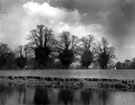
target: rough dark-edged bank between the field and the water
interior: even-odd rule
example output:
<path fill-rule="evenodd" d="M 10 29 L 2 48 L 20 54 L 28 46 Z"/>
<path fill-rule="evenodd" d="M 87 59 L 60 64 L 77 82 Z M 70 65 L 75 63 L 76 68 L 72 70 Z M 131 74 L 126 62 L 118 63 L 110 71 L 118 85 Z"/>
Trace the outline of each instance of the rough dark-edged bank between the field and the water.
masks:
<path fill-rule="evenodd" d="M 105 78 L 62 78 L 40 76 L 0 76 L 0 85 L 9 84 L 49 88 L 100 88 L 115 91 L 135 91 L 135 80 Z"/>

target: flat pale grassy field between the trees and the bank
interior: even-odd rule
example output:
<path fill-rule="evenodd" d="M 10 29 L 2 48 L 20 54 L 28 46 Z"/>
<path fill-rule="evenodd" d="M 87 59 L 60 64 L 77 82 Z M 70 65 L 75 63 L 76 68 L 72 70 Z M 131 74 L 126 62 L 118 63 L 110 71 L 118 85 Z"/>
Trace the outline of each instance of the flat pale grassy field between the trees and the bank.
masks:
<path fill-rule="evenodd" d="M 134 79 L 135 70 L 0 70 L 0 76 Z"/>

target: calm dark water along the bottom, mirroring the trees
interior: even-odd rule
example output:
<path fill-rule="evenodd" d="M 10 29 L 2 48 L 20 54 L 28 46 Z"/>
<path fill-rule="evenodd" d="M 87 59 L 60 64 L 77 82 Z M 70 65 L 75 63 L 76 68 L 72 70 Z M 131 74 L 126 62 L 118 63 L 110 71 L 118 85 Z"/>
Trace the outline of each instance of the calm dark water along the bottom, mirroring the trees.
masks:
<path fill-rule="evenodd" d="M 0 105 L 135 105 L 135 92 L 0 85 Z"/>

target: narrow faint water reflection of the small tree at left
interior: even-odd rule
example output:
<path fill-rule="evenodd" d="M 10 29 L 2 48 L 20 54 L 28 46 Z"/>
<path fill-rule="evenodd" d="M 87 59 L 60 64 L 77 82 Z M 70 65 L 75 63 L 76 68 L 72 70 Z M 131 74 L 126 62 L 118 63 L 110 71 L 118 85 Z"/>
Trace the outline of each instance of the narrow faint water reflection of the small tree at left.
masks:
<path fill-rule="evenodd" d="M 19 104 L 26 104 L 26 87 L 25 86 L 19 86 L 17 87 L 17 92 L 19 93 Z"/>

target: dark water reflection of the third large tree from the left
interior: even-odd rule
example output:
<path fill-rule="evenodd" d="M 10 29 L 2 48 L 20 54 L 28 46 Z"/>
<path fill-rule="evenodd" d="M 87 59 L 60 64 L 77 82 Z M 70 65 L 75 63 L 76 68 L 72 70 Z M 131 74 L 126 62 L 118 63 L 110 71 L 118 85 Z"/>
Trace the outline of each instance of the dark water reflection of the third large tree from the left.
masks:
<path fill-rule="evenodd" d="M 85 89 L 81 91 L 81 99 L 84 105 L 89 105 L 91 98 L 92 98 L 91 89 Z"/>

